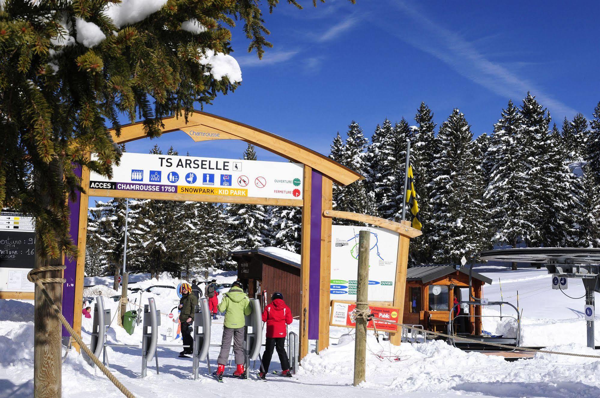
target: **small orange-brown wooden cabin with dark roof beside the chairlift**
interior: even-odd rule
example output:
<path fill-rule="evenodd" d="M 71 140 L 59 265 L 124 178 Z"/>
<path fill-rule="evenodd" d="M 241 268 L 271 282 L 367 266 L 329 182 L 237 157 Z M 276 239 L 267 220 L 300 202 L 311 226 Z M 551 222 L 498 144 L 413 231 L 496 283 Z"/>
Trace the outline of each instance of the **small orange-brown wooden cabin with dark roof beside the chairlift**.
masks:
<path fill-rule="evenodd" d="M 472 273 L 472 294 L 482 297 L 483 285 L 491 279 Z M 446 332 L 454 298 L 469 301 L 469 270 L 454 264 L 410 267 L 406 274 L 404 324 L 422 325 L 427 330 Z M 482 333 L 481 306 L 463 304 L 454 311 L 455 331 Z"/>

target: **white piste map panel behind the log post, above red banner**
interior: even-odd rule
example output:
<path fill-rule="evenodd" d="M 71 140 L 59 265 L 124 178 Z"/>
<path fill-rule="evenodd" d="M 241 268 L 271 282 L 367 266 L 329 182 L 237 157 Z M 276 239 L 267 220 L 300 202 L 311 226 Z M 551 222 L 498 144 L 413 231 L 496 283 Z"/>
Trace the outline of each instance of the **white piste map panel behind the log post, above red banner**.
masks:
<path fill-rule="evenodd" d="M 358 233 L 371 233 L 369 254 L 369 301 L 394 301 L 398 258 L 398 233 L 385 228 L 333 225 L 331 230 L 332 300 L 356 300 Z"/>

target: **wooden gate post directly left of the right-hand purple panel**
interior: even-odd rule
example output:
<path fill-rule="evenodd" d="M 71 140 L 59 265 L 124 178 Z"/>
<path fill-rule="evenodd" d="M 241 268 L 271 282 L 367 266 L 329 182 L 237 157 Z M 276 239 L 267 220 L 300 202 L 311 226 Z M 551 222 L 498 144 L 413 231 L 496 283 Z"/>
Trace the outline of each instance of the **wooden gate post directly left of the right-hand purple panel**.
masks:
<path fill-rule="evenodd" d="M 310 204 L 313 169 L 304 166 L 304 206 L 302 207 L 302 236 L 301 236 L 301 304 L 300 304 L 300 329 L 299 329 L 299 359 L 308 354 L 308 281 L 310 280 Z"/>

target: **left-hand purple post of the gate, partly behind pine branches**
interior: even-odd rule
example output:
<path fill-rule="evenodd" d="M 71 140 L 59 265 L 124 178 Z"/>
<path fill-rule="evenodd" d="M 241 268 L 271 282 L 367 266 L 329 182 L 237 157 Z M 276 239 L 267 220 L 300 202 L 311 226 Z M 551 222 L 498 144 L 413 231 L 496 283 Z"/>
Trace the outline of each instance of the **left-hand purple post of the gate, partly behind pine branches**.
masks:
<path fill-rule="evenodd" d="M 77 177 L 81 177 L 81 171 L 81 166 L 77 166 L 74 169 Z M 84 186 L 83 188 L 87 189 L 88 187 Z M 79 203 L 81 201 L 81 193 L 77 192 L 76 197 L 75 201 L 69 200 L 69 211 L 71 212 L 69 233 L 74 245 L 77 246 L 79 241 Z M 77 258 L 65 257 L 65 266 L 67 266 L 67 269 L 65 269 L 64 278 L 67 279 L 67 282 L 65 282 L 62 287 L 62 315 L 67 319 L 67 322 L 73 326 Z M 70 336 L 64 326 L 62 327 L 62 336 Z"/>

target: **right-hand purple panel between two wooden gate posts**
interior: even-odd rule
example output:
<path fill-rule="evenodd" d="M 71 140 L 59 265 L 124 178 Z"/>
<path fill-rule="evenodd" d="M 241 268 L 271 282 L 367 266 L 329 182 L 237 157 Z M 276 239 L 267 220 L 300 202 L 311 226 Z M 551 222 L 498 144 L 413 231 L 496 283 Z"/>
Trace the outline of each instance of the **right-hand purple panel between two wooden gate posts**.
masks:
<path fill-rule="evenodd" d="M 321 285 L 321 217 L 323 174 L 313 169 L 310 194 L 310 277 L 308 278 L 308 339 L 319 339 Z"/>

